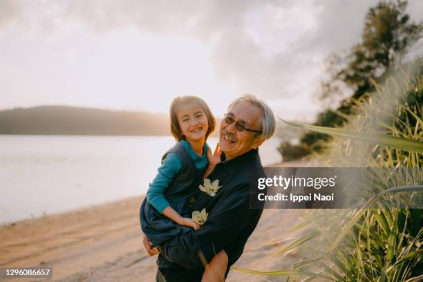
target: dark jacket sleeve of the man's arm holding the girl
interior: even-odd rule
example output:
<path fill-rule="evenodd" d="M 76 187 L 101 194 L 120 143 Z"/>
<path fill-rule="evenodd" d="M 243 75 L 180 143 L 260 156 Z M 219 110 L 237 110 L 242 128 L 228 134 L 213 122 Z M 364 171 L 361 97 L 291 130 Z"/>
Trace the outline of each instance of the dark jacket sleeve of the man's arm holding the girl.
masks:
<path fill-rule="evenodd" d="M 250 209 L 249 185 L 234 187 L 220 198 L 200 229 L 185 232 L 160 245 L 162 255 L 186 269 L 207 265 L 215 254 L 225 249 L 248 220 L 252 220 L 254 209 Z"/>

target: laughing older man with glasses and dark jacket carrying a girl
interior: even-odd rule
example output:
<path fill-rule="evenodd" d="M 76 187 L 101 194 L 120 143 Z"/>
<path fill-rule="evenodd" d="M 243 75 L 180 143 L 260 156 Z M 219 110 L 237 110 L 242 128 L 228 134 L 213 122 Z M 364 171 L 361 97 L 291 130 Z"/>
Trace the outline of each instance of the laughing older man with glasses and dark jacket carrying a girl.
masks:
<path fill-rule="evenodd" d="M 205 209 L 207 218 L 200 229 L 160 245 L 157 281 L 201 281 L 205 267 L 222 250 L 227 254 L 227 276 L 263 212 L 263 208 L 250 209 L 250 180 L 265 177 L 258 148 L 275 131 L 269 106 L 253 95 L 240 97 L 229 106 L 220 125 L 222 162 L 203 183 L 193 206 L 193 211 Z M 146 237 L 144 247 L 150 255 L 158 253 Z"/>

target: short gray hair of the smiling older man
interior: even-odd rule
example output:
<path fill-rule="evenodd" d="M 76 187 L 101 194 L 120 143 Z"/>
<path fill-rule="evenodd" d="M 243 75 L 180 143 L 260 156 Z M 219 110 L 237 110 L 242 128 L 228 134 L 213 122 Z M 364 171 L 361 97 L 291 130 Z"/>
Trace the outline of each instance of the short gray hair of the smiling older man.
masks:
<path fill-rule="evenodd" d="M 261 115 L 261 135 L 263 138 L 265 138 L 265 140 L 272 138 L 272 136 L 276 133 L 276 119 L 274 118 L 274 114 L 270 107 L 267 106 L 263 100 L 257 99 L 256 96 L 252 94 L 246 94 L 232 102 L 232 104 L 230 104 L 227 109 L 230 110 L 242 102 L 249 102 L 250 104 L 261 109 L 261 112 L 263 113 Z"/>

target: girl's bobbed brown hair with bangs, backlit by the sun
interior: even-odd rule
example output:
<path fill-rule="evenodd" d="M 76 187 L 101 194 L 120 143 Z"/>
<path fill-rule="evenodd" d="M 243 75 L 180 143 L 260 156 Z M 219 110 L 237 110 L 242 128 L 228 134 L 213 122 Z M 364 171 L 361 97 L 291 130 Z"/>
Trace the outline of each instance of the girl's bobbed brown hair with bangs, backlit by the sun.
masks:
<path fill-rule="evenodd" d="M 209 129 L 206 132 L 206 140 L 209 137 L 210 133 L 213 133 L 216 127 L 216 121 L 214 120 L 214 116 L 212 111 L 210 111 L 209 106 L 207 106 L 206 102 L 203 99 L 196 97 L 196 96 L 182 96 L 176 97 L 173 99 L 171 108 L 169 110 L 170 115 L 170 124 L 171 124 L 171 134 L 173 137 L 179 142 L 182 139 L 185 139 L 184 135 L 182 135 L 182 131 L 179 126 L 178 116 L 176 113 L 178 112 L 179 106 L 181 104 L 189 104 L 189 103 L 196 103 L 201 109 L 205 112 L 207 122 L 209 124 Z"/>

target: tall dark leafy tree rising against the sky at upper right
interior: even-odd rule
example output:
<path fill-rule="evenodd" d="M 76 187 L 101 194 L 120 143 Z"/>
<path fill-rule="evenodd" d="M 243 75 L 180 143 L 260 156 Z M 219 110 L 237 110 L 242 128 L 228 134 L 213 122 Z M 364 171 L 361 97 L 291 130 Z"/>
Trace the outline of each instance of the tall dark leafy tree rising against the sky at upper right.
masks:
<path fill-rule="evenodd" d="M 372 80 L 383 82 L 386 73 L 397 64 L 406 50 L 422 37 L 423 23 L 413 23 L 406 14 L 407 1 L 381 1 L 366 13 L 361 40 L 348 53 L 328 57 L 329 79 L 322 82 L 321 98 L 330 100 L 336 95 L 345 95 L 350 89 L 353 95 L 341 102 L 337 111 L 351 113 L 350 98 L 359 99 L 366 92 L 373 91 Z M 320 113 L 316 125 L 335 126 L 345 118 L 332 110 Z M 306 133 L 301 142 L 319 151 L 318 140 L 327 140 L 328 135 Z"/>

